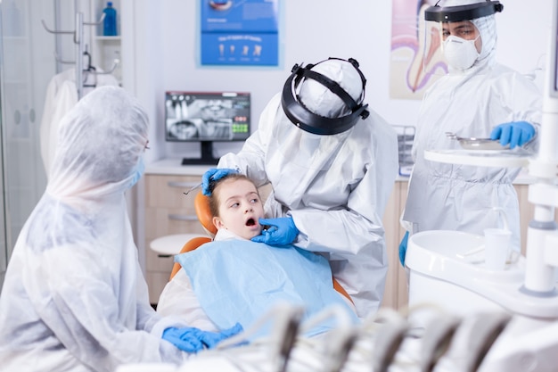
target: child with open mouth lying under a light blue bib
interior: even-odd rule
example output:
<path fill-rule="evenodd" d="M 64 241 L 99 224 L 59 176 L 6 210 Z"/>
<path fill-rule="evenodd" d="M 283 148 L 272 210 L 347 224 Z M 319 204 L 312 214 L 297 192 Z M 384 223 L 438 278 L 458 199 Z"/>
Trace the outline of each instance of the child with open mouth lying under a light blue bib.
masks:
<path fill-rule="evenodd" d="M 182 265 L 160 295 L 157 311 L 183 317 L 191 327 L 217 331 L 240 323 L 244 329 L 279 302 L 303 306 L 306 318 L 338 304 L 357 316 L 349 300 L 333 289 L 324 257 L 285 245 L 251 242 L 264 218 L 258 189 L 249 178 L 230 174 L 210 185 L 213 242 L 179 254 Z M 307 335 L 331 329 L 327 324 Z"/>

